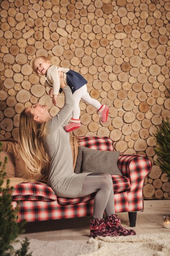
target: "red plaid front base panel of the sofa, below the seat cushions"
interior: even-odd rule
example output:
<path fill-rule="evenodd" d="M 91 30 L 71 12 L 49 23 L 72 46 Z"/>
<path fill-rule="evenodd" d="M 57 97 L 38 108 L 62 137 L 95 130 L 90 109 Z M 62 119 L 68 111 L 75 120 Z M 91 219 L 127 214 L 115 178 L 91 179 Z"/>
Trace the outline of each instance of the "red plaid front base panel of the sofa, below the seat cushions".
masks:
<path fill-rule="evenodd" d="M 63 206 L 58 204 L 57 200 L 52 202 L 21 201 L 17 221 L 26 220 L 27 222 L 33 222 L 92 216 L 93 203 L 94 200 L 90 200 L 84 203 Z M 14 201 L 13 207 L 16 207 L 16 205 L 17 202 Z M 117 213 L 128 212 L 126 192 L 115 195 L 115 210 Z"/>

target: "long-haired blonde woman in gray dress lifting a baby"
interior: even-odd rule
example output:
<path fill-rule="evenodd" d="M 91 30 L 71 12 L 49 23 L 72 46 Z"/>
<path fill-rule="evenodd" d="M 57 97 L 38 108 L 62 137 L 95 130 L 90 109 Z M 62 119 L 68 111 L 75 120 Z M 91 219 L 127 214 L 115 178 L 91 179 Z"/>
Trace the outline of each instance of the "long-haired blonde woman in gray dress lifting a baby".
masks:
<path fill-rule="evenodd" d="M 74 173 L 69 134 L 64 130 L 72 114 L 74 101 L 70 87 L 64 83 L 63 73 L 59 72 L 59 76 L 65 104 L 56 116 L 51 117 L 47 106 L 39 103 L 24 109 L 20 114 L 20 154 L 23 159 L 27 159 L 27 173 L 40 173 L 47 161 L 47 153 L 50 160 L 48 185 L 58 196 L 77 198 L 96 192 L 90 225 L 93 238 L 135 235 L 134 230 L 124 229 L 120 225 L 120 219 L 115 214 L 111 175 Z M 106 221 L 103 219 L 104 211 Z"/>

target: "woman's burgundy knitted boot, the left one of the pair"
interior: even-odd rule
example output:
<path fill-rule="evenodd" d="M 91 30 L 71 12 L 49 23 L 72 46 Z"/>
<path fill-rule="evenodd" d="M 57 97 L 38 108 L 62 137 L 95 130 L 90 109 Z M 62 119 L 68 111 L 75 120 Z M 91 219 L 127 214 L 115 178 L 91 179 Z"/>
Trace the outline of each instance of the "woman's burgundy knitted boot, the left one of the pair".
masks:
<path fill-rule="evenodd" d="M 90 225 L 90 236 L 118 236 L 116 231 L 109 231 L 106 229 L 104 219 L 93 219 Z"/>

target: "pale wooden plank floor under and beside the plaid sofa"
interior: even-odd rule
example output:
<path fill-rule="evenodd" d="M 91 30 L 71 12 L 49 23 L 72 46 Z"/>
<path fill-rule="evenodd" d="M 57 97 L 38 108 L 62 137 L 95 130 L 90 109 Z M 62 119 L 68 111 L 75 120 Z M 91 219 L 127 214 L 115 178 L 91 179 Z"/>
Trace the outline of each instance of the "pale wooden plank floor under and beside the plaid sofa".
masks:
<path fill-rule="evenodd" d="M 144 211 L 137 213 L 136 234 L 170 233 L 170 229 L 163 228 L 163 215 L 170 215 L 170 200 L 146 200 Z M 128 213 L 118 213 L 122 226 L 129 227 Z M 89 239 L 89 223 L 91 217 L 55 220 L 44 223 L 29 223 L 26 225 L 27 236 L 44 241 L 73 240 L 84 243 Z"/>

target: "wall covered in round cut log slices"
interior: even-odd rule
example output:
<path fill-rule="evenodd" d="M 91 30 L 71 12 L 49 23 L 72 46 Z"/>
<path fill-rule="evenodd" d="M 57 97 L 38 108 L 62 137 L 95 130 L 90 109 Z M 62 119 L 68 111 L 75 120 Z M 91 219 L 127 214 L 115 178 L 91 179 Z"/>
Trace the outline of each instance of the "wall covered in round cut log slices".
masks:
<path fill-rule="evenodd" d="M 102 124 L 81 102 L 74 135 L 109 136 L 121 153 L 147 155 L 144 197 L 170 198 L 153 150 L 155 126 L 170 117 L 169 0 L 1 0 L 0 22 L 0 139 L 18 138 L 25 107 L 46 103 L 54 116 L 63 106 L 63 95 L 53 106 L 44 77 L 33 74 L 33 58 L 48 56 L 80 72 L 109 106 Z"/>

